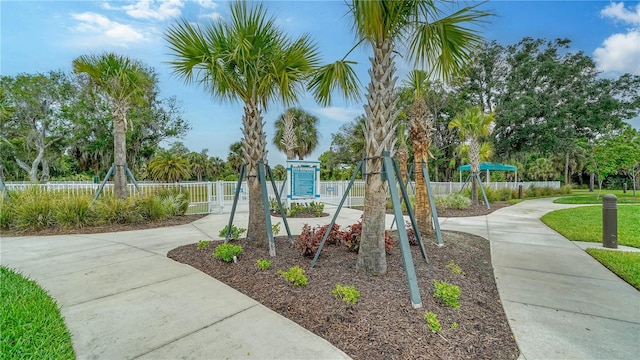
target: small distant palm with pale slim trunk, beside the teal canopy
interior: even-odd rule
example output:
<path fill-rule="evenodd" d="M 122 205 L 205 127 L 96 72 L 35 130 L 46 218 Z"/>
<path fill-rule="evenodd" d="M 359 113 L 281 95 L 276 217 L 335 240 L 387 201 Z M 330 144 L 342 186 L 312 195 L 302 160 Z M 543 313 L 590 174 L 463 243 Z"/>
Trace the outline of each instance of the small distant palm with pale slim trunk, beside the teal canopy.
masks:
<path fill-rule="evenodd" d="M 491 124 L 495 121 L 493 113 L 485 114 L 479 106 L 468 108 L 449 123 L 449 129 L 458 129 L 460 140 L 469 147 L 471 165 L 471 202 L 478 204 L 478 182 L 480 172 L 481 139 L 489 135 Z"/>

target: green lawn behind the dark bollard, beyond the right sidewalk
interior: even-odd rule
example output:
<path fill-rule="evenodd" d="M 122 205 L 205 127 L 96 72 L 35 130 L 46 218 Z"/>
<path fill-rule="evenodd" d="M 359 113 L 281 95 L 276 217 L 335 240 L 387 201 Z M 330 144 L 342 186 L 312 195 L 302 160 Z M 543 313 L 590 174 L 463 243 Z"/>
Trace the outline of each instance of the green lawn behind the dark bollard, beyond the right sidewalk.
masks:
<path fill-rule="evenodd" d="M 569 240 L 602 242 L 602 206 L 556 210 L 541 220 Z M 618 206 L 618 244 L 640 248 L 640 205 Z"/>

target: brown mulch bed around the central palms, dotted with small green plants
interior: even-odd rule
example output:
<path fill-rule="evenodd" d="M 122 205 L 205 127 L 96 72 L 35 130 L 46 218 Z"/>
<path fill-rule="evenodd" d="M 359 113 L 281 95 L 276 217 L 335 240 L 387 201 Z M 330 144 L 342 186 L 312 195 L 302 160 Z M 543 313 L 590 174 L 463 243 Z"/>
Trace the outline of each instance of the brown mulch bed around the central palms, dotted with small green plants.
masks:
<path fill-rule="evenodd" d="M 196 244 L 176 248 L 168 256 L 252 297 L 272 310 L 325 338 L 354 359 L 515 359 L 519 351 L 505 317 L 493 277 L 489 242 L 457 232 L 443 232 L 445 245 L 434 238 L 425 241 L 426 263 L 417 246 L 411 246 L 421 309 L 413 309 L 402 258 L 396 245 L 387 255 L 384 276 L 366 276 L 356 271 L 357 253 L 343 245 L 327 245 L 318 263 L 294 249 L 286 236 L 276 237 L 277 256 L 240 239 L 243 253 L 238 263 L 213 259 L 214 244 L 197 250 Z M 271 259 L 260 271 L 257 259 Z M 454 274 L 446 265 L 460 266 L 465 275 Z M 277 270 L 299 265 L 309 284 L 296 287 Z M 433 280 L 446 281 L 461 289 L 460 308 L 453 309 L 434 298 Z M 360 300 L 351 305 L 336 299 L 336 284 L 353 285 Z M 437 314 L 441 333 L 429 330 L 425 311 Z M 452 324 L 457 323 L 457 328 Z M 455 325 L 454 325 L 455 326 Z"/>

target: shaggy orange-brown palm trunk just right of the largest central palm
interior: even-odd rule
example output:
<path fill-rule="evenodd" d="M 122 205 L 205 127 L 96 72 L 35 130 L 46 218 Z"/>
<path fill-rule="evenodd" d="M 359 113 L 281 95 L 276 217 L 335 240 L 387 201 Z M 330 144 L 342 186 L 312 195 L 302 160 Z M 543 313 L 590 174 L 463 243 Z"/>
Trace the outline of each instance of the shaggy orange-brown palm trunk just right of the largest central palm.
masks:
<path fill-rule="evenodd" d="M 431 139 L 434 133 L 433 117 L 427 108 L 425 94 L 429 87 L 429 75 L 423 70 L 413 70 L 409 73 L 404 85 L 413 94 L 413 103 L 409 110 L 409 140 L 413 148 L 413 163 L 416 179 L 416 222 L 422 234 L 428 234 L 433 228 L 431 221 L 431 205 L 427 193 L 426 179 L 422 174 L 422 164 L 429 169 L 431 155 Z"/>

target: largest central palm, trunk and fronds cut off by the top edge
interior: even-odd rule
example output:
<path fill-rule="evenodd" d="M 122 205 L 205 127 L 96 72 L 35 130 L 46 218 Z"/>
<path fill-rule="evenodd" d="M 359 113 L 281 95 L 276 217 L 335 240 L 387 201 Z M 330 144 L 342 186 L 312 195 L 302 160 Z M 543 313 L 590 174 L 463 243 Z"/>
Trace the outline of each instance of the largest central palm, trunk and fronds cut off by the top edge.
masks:
<path fill-rule="evenodd" d="M 388 189 L 380 173 L 382 153 L 392 151 L 394 145 L 396 45 L 406 45 L 403 53 L 409 61 L 449 79 L 462 70 L 474 48 L 482 43 L 479 33 L 465 24 L 480 22 L 490 14 L 478 10 L 476 5 L 446 15 L 431 0 L 353 0 L 349 8 L 356 35 L 373 50 L 365 105 L 368 176 L 357 266 L 365 273 L 384 274 L 387 269 L 384 226 Z"/>

